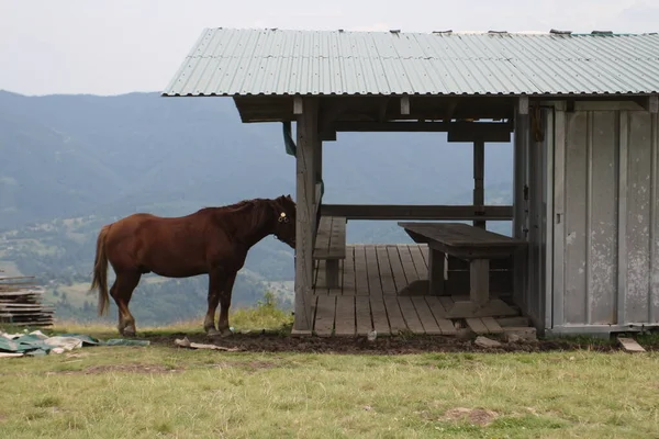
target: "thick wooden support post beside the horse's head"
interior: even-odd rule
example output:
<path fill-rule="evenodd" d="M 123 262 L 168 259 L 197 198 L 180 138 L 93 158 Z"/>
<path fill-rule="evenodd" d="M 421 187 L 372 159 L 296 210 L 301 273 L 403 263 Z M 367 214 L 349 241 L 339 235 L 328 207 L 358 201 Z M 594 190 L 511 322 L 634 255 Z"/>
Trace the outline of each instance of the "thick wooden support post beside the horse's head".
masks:
<path fill-rule="evenodd" d="M 313 228 L 314 212 L 314 149 L 319 136 L 319 103 L 313 98 L 302 101 L 302 114 L 298 117 L 297 155 L 297 223 L 295 223 L 295 319 L 294 334 L 311 334 L 313 286 Z M 298 105 L 295 105 L 298 106 Z"/>

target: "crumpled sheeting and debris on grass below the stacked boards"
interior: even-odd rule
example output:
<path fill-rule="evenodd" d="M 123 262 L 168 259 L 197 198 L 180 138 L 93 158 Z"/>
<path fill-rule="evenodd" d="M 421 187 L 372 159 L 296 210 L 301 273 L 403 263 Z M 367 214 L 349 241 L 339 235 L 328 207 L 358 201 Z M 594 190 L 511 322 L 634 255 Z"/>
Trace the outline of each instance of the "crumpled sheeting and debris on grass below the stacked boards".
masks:
<path fill-rule="evenodd" d="M 60 334 L 46 336 L 40 330 L 30 334 L 0 333 L 0 358 L 19 356 L 46 356 L 86 346 L 148 346 L 148 340 L 112 338 L 102 341 L 86 334 Z M 5 353 L 4 356 L 2 353 Z"/>

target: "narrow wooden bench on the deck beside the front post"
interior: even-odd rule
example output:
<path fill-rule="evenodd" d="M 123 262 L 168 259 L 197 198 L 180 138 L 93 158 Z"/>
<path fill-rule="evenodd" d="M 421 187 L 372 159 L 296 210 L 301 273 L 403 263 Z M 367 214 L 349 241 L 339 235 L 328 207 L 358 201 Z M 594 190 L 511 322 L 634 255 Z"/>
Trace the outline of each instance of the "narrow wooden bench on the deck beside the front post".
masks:
<path fill-rule="evenodd" d="M 346 217 L 321 216 L 313 249 L 314 260 L 325 261 L 325 281 L 328 289 L 338 284 L 338 261 L 346 258 Z"/>

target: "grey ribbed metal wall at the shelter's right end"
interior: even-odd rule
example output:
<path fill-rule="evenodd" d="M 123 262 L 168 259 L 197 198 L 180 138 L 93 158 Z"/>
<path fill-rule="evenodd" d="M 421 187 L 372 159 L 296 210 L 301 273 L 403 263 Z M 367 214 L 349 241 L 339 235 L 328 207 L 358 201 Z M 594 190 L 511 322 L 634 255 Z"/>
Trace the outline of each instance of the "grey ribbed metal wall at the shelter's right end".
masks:
<path fill-rule="evenodd" d="M 657 115 L 557 113 L 552 330 L 659 325 Z"/>

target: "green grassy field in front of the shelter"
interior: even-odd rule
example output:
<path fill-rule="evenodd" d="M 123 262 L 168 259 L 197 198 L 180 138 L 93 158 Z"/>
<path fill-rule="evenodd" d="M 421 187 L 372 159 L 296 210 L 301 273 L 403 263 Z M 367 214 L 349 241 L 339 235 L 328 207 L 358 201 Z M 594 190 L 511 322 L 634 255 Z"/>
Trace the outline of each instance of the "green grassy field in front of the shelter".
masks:
<path fill-rule="evenodd" d="M 284 333 L 290 317 L 260 306 L 237 312 L 232 325 Z M 56 331 L 118 337 L 100 326 Z M 226 352 L 178 348 L 183 334 L 203 339 L 199 322 L 181 323 L 144 328 L 148 347 L 0 360 L 0 437 L 659 437 L 656 351 L 489 352 L 461 340 L 470 351 L 393 354 L 382 338 L 369 350 L 364 340 L 276 334 L 222 339 L 250 346 Z M 436 340 L 428 346 L 447 342 Z M 272 351 L 275 344 L 291 349 Z M 266 345 L 269 352 L 259 350 Z M 333 353 L 348 345 L 357 351 Z M 325 353 L 314 352 L 320 346 Z"/>

